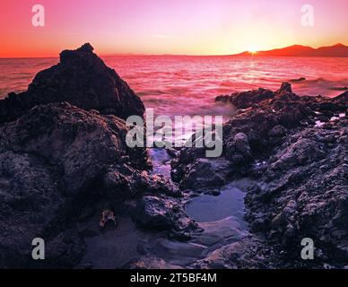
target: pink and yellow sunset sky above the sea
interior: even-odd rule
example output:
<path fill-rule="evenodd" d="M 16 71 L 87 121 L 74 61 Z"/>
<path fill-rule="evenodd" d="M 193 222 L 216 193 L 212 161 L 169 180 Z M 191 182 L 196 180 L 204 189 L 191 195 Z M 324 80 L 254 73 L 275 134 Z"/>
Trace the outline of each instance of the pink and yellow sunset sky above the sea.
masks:
<path fill-rule="evenodd" d="M 45 7 L 45 27 L 31 25 L 33 4 Z M 301 25 L 303 4 L 314 27 Z M 1 0 L 0 57 L 57 57 L 85 42 L 100 55 L 347 45 L 347 23 L 347 0 Z"/>

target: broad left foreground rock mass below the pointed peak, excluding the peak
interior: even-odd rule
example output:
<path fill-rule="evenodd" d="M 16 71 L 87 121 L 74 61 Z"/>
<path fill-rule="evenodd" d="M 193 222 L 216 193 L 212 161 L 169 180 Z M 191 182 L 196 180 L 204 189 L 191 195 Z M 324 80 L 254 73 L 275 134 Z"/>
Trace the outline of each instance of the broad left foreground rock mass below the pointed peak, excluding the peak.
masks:
<path fill-rule="evenodd" d="M 0 126 L 2 267 L 74 267 L 85 252 L 76 228 L 83 214 L 100 206 L 120 213 L 129 199 L 144 203 L 146 228 L 189 237 L 196 224 L 169 197 L 181 196 L 178 187 L 149 175 L 147 151 L 129 149 L 126 132 L 124 120 L 69 103 L 37 106 Z M 45 239 L 43 261 L 31 259 L 34 238 Z"/>

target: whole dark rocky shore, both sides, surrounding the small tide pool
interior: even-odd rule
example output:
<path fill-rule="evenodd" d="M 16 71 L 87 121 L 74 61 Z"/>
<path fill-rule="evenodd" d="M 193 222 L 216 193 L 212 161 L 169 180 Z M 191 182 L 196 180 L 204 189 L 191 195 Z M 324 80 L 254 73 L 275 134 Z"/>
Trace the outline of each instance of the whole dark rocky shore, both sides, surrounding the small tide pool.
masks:
<path fill-rule="evenodd" d="M 144 117 L 144 104 L 92 50 L 63 51 L 28 91 L 0 100 L 0 267 L 98 267 L 82 265 L 89 239 L 123 228 L 187 258 L 166 262 L 166 249 L 144 245 L 110 267 L 347 267 L 348 92 L 299 97 L 283 83 L 220 96 L 239 109 L 223 126 L 223 156 L 171 151 L 170 179 L 152 173 L 145 148 L 127 147 L 125 119 Z M 187 197 L 240 178 L 253 180 L 248 234 L 187 215 Z M 45 260 L 32 260 L 34 238 L 45 239 Z M 316 244 L 313 261 L 300 259 L 303 238 Z"/>

